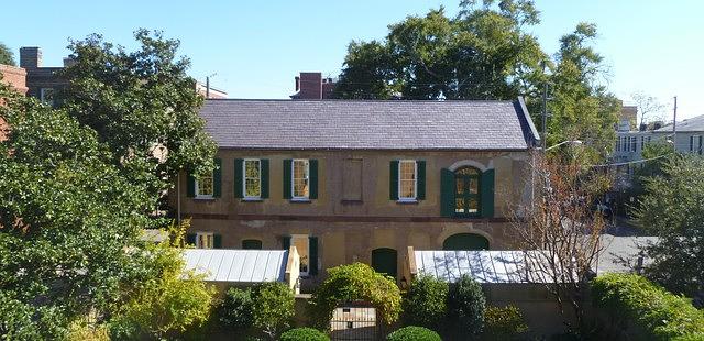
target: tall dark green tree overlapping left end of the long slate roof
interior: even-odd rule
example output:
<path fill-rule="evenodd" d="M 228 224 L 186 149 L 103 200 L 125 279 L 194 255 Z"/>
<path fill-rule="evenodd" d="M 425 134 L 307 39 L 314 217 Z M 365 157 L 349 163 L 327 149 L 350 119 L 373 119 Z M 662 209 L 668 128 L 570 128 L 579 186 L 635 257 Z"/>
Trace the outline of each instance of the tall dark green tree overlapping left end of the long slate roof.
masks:
<path fill-rule="evenodd" d="M 141 44 L 134 52 L 98 34 L 72 41 L 76 63 L 62 74 L 70 81 L 64 108 L 98 132 L 128 178 L 158 193 L 180 169 L 211 170 L 216 145 L 198 116 L 202 97 L 186 74 L 190 62 L 177 57 L 179 42 L 146 30 L 134 37 Z"/>

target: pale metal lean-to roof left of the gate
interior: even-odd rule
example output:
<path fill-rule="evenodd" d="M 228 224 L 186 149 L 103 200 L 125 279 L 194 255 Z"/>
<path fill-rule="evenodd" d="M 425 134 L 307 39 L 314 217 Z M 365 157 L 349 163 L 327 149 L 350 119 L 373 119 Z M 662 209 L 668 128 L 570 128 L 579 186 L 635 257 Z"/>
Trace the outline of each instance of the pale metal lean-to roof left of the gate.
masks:
<path fill-rule="evenodd" d="M 286 279 L 286 250 L 184 250 L 185 268 L 207 282 L 260 283 Z"/>

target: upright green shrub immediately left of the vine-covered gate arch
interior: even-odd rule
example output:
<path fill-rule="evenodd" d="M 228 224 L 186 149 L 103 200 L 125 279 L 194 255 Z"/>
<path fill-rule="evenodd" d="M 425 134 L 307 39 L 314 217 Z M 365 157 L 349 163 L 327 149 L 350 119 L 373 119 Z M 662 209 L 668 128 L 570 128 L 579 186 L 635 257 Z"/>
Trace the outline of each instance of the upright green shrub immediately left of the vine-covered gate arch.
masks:
<path fill-rule="evenodd" d="M 295 298 L 284 283 L 265 283 L 252 288 L 252 317 L 254 328 L 272 340 L 288 328 L 294 317 Z"/>

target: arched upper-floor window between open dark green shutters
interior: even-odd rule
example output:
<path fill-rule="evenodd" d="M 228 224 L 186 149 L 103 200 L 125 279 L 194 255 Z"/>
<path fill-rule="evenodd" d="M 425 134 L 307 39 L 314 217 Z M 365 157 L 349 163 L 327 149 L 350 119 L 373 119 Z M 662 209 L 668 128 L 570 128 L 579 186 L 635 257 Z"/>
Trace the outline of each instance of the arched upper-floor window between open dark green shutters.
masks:
<path fill-rule="evenodd" d="M 459 217 L 480 216 L 482 174 L 474 167 L 454 170 L 454 213 Z"/>

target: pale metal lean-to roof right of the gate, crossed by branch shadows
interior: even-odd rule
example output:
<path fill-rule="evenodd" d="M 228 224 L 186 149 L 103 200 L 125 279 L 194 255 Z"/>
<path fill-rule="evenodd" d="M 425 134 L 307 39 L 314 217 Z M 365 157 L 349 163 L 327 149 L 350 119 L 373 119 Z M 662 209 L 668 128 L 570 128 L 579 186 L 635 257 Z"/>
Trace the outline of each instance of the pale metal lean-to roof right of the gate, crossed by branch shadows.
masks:
<path fill-rule="evenodd" d="M 536 251 L 415 251 L 416 273 L 446 282 L 468 274 L 479 283 L 553 283 Z M 544 263 L 543 263 L 544 264 Z"/>

